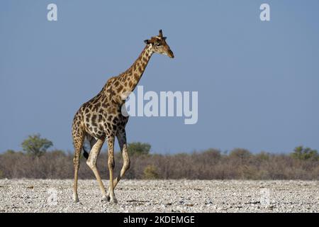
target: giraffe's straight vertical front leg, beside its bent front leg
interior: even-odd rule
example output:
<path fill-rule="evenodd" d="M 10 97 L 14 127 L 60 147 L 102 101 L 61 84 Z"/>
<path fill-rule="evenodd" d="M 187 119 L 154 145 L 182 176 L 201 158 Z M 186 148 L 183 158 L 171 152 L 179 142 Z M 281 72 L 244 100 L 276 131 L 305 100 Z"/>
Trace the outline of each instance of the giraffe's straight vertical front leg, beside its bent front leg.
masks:
<path fill-rule="evenodd" d="M 117 204 L 116 196 L 114 194 L 113 184 L 113 170 L 114 170 L 114 136 L 108 137 L 108 170 L 110 171 L 110 182 L 108 187 L 108 196 L 112 204 Z M 108 198 L 108 196 L 106 196 Z"/>

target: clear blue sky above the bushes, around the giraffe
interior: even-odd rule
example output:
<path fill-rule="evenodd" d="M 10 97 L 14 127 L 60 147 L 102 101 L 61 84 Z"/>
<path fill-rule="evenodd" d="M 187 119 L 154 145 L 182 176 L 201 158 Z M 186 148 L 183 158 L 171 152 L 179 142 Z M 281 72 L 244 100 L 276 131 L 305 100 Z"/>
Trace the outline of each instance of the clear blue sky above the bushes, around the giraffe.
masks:
<path fill-rule="evenodd" d="M 47 21 L 55 3 L 58 21 Z M 259 20 L 270 5 L 271 21 Z M 198 91 L 198 123 L 130 118 L 156 153 L 319 149 L 319 1 L 0 1 L 0 151 L 33 133 L 73 150 L 74 113 L 162 29 L 147 91 Z"/>

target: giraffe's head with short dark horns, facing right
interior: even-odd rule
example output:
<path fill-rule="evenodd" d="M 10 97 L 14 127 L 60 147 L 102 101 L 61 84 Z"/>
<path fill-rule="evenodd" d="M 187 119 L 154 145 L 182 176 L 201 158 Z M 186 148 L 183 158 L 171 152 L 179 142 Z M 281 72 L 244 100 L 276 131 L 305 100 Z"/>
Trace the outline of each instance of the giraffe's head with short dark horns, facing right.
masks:
<path fill-rule="evenodd" d="M 166 37 L 163 36 L 162 30 L 159 30 L 159 35 L 153 36 L 149 40 L 144 40 L 144 42 L 151 46 L 152 52 L 158 52 L 159 54 L 174 58 L 174 53 L 169 48 L 169 45 L 167 45 Z"/>

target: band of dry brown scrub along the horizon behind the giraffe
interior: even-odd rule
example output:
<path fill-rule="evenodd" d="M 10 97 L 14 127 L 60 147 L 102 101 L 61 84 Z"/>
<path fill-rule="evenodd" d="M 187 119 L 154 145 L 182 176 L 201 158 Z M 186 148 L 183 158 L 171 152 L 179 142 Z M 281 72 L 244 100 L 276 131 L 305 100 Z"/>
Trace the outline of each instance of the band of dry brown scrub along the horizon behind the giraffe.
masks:
<path fill-rule="evenodd" d="M 140 143 L 142 144 L 142 143 Z M 129 145 L 130 146 L 130 145 Z M 136 143 L 133 148 L 136 148 Z M 140 147 L 140 145 L 138 145 Z M 292 153 L 250 153 L 236 148 L 230 153 L 208 149 L 176 155 L 150 154 L 150 147 L 140 152 L 130 150 L 128 179 L 319 179 L 318 153 L 296 148 Z M 132 146 L 131 146 L 132 148 Z M 137 149 L 137 150 L 139 150 Z M 147 152 L 146 152 L 147 151 Z M 122 157 L 116 157 L 116 172 L 121 171 Z M 0 177 L 72 179 L 73 154 L 62 150 L 44 152 L 38 158 L 10 150 L 0 154 Z M 101 176 L 108 178 L 107 154 L 102 152 L 97 165 Z M 94 179 L 94 174 L 81 160 L 80 179 Z"/>

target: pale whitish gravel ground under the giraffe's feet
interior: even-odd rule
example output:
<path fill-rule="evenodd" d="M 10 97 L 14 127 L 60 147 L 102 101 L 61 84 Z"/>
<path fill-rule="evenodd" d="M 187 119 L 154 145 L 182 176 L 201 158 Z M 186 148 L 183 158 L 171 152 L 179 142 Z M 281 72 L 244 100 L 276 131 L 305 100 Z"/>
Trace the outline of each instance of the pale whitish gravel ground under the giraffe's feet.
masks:
<path fill-rule="evenodd" d="M 319 181 L 127 180 L 118 204 L 101 200 L 96 180 L 0 179 L 0 212 L 318 212 Z M 104 180 L 104 185 L 107 181 Z"/>

